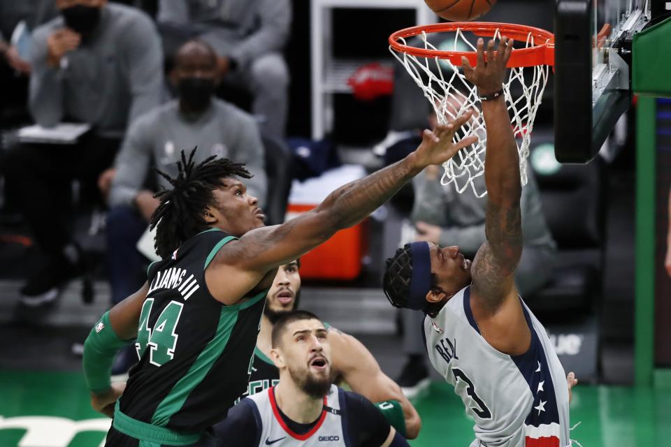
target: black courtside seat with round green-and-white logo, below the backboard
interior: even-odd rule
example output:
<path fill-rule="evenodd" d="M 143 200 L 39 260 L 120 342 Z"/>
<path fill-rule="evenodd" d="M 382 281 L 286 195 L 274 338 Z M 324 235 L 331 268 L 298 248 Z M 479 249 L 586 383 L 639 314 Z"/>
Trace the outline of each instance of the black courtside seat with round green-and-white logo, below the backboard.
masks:
<path fill-rule="evenodd" d="M 530 164 L 558 253 L 548 284 L 524 300 L 540 314 L 591 309 L 603 284 L 603 163 L 560 165 L 552 145 L 537 145 Z"/>

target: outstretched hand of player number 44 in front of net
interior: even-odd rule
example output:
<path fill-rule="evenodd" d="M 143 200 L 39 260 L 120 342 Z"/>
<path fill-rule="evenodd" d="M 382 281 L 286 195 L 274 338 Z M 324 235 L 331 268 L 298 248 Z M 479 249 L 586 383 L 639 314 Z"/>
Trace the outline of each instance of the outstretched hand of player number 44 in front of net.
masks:
<path fill-rule="evenodd" d="M 422 134 L 421 144 L 414 151 L 419 168 L 430 165 L 440 165 L 451 159 L 464 147 L 477 141 L 477 136 L 470 135 L 459 142 L 452 142 L 454 134 L 470 119 L 472 110 L 467 110 L 455 119 L 449 119 L 447 124 L 438 124 L 433 131 L 426 129 Z"/>

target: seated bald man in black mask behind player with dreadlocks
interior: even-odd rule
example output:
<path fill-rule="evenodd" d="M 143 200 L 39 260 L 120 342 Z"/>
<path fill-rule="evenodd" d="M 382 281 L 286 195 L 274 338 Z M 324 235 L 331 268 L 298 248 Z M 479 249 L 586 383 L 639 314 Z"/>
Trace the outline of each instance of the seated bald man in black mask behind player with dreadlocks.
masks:
<path fill-rule="evenodd" d="M 159 204 L 154 191 L 144 187 L 147 175 L 154 175 L 159 187 L 168 186 L 150 168 L 174 177 L 180 151 L 197 146 L 196 163 L 208 156 L 245 163 L 254 175 L 245 181 L 248 193 L 259 199 L 260 207 L 265 203 L 264 147 L 259 129 L 251 115 L 213 97 L 219 82 L 214 50 L 197 40 L 182 45 L 171 82 L 178 99 L 131 124 L 114 168 L 99 181 L 110 205 L 107 256 L 113 304 L 134 293 L 146 280 L 147 260 L 137 251 L 136 243 Z M 129 354 L 131 362 L 134 350 Z M 129 366 L 120 358 L 115 372 Z"/>

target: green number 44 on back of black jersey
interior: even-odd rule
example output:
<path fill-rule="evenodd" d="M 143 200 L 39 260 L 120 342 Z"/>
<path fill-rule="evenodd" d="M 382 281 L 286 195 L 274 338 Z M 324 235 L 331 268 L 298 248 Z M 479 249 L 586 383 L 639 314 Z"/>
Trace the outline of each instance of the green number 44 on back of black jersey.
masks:
<path fill-rule="evenodd" d="M 142 358 L 143 353 L 150 347 L 149 362 L 152 365 L 161 366 L 166 362 L 173 360 L 175 355 L 175 346 L 179 335 L 175 332 L 177 323 L 182 315 L 181 302 L 171 301 L 163 312 L 159 315 L 154 328 L 149 327 L 149 316 L 152 313 L 154 298 L 147 298 L 142 305 L 140 313 L 140 324 L 138 326 L 138 339 L 135 347 L 138 351 L 138 358 Z"/>

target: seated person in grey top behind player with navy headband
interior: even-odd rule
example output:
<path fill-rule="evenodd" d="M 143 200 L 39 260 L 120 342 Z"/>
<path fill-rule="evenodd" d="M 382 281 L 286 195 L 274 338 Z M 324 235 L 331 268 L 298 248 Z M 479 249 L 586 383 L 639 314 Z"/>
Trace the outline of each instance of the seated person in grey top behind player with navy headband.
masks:
<path fill-rule="evenodd" d="M 521 296 L 533 295 L 549 280 L 556 244 L 545 220 L 538 187 L 530 169 L 528 183 L 522 189 L 521 217 L 524 225 L 524 251 L 515 271 L 515 285 Z M 467 258 L 473 258 L 485 241 L 486 196 L 477 198 L 471 188 L 462 194 L 454 186 L 443 186 L 441 166 L 429 166 L 414 177 L 414 205 L 410 220 L 414 224 L 414 241 L 435 242 L 441 247 L 458 245 Z M 475 180 L 477 191 L 486 190 L 484 175 Z M 408 241 L 408 242 L 414 242 Z M 408 397 L 417 395 L 428 385 L 425 364 L 426 348 L 419 328 L 422 312 L 403 309 L 403 351 L 407 356 L 398 384 Z"/>

